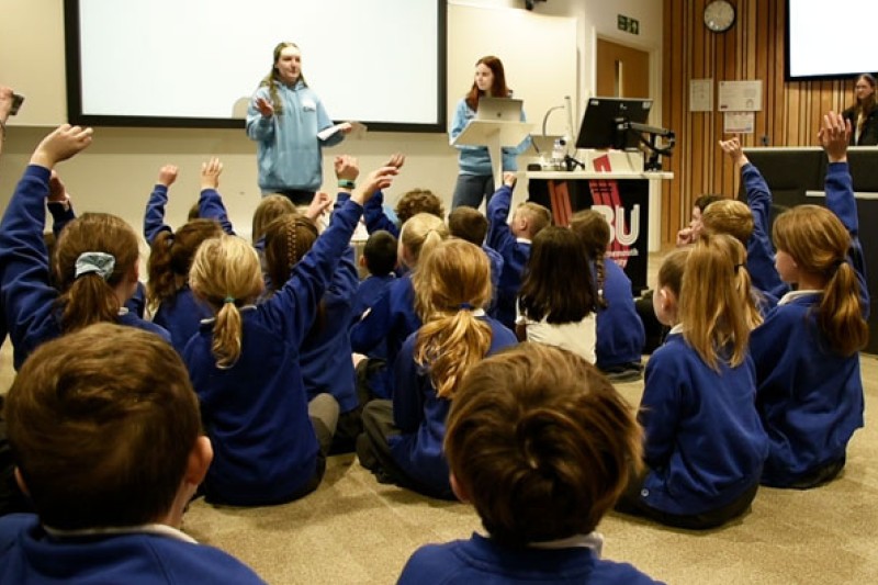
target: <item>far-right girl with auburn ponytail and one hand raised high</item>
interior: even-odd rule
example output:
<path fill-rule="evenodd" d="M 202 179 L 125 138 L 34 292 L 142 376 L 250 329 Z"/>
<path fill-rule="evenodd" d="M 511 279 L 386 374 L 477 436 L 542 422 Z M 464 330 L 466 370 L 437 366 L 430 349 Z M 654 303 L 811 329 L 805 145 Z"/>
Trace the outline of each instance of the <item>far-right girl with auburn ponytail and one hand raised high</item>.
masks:
<path fill-rule="evenodd" d="M 868 341 L 869 293 L 847 166 L 849 133 L 840 114 L 823 116 L 826 207 L 792 207 L 773 227 L 777 272 L 797 290 L 780 299 L 751 339 L 756 407 L 770 445 L 765 485 L 808 488 L 833 480 L 863 426 L 859 351 Z"/>

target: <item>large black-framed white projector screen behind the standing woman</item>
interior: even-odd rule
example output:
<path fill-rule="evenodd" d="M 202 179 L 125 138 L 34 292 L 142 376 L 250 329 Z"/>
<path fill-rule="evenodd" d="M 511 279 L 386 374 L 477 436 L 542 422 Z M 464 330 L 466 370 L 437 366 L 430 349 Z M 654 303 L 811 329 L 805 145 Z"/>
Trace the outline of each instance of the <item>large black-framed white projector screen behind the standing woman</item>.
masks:
<path fill-rule="evenodd" d="M 443 0 L 66 0 L 68 119 L 240 127 L 284 41 L 336 121 L 446 131 Z"/>

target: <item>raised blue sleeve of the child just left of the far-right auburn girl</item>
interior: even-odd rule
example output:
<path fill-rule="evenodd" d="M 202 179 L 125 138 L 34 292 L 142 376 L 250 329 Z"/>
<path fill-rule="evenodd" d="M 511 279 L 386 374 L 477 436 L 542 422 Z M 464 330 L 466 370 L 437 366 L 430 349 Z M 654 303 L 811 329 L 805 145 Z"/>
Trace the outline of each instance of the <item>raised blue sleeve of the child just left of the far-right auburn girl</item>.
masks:
<path fill-rule="evenodd" d="M 777 297 L 789 290 L 775 269 L 775 252 L 768 220 L 772 216 L 772 191 L 759 169 L 747 162 L 741 167 L 741 179 L 747 193 L 747 205 L 753 213 L 753 234 L 747 239 L 747 272 L 753 285 L 766 293 L 766 304 L 770 308 Z"/>

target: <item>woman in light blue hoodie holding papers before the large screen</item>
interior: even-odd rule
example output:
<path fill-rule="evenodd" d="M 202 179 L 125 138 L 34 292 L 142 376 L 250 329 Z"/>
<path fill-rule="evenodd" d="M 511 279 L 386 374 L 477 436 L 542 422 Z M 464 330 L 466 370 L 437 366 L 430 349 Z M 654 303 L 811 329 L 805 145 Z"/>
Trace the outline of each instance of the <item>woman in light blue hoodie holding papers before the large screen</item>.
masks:
<path fill-rule="evenodd" d="M 326 138 L 317 136 L 331 126 L 302 75 L 299 46 L 280 43 L 271 72 L 259 82 L 247 110 L 247 136 L 257 143 L 262 194 L 281 193 L 296 205 L 311 203 L 323 183 L 323 147 L 340 143 L 352 128 L 345 122 Z"/>

